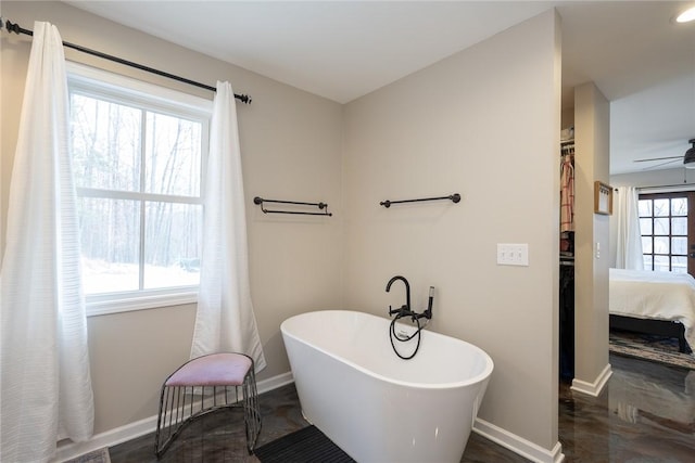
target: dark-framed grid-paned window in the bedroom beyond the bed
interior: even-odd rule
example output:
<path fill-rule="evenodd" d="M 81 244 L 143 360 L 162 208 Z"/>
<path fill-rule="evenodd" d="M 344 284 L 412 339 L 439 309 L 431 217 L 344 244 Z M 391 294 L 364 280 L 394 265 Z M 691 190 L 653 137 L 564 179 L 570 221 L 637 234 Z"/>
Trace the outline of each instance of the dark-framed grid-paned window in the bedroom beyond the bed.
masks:
<path fill-rule="evenodd" d="M 688 230 L 695 215 L 692 192 L 640 195 L 640 231 L 646 270 L 692 273 Z"/>

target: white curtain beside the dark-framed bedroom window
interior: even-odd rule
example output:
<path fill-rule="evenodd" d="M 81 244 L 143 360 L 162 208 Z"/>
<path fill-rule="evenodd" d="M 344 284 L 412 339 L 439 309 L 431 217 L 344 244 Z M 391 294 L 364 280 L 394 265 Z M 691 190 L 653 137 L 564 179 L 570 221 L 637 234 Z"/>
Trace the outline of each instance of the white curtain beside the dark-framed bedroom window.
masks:
<path fill-rule="evenodd" d="M 640 194 L 633 187 L 619 187 L 617 196 L 616 267 L 644 270 L 637 209 Z"/>

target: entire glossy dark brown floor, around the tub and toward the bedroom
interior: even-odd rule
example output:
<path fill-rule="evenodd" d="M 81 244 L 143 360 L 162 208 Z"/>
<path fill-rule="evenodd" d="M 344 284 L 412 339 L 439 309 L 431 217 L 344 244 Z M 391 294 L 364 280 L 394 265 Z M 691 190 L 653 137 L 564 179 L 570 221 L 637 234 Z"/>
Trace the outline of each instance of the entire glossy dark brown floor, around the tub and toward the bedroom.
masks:
<path fill-rule="evenodd" d="M 695 461 L 695 371 L 610 356 L 614 374 L 597 398 L 559 386 L 559 440 L 566 462 Z M 261 396 L 258 446 L 307 425 L 288 385 Z M 191 425 L 161 462 L 257 462 L 245 450 L 238 411 Z M 204 437 L 203 437 L 204 436 Z M 113 463 L 156 462 L 154 436 L 112 447 Z M 471 433 L 462 462 L 526 462 Z"/>

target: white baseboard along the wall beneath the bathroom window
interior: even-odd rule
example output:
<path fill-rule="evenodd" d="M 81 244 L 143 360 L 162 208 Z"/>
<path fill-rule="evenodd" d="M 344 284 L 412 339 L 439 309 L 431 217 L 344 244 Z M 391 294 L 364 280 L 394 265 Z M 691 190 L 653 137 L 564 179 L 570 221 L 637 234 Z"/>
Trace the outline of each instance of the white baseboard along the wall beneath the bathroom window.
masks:
<path fill-rule="evenodd" d="M 256 388 L 258 394 L 267 393 L 278 387 L 282 387 L 294 381 L 291 372 L 282 373 L 277 376 L 269 377 L 267 380 L 256 382 Z M 110 429 L 105 433 L 94 435 L 86 442 L 68 442 L 58 448 L 58 453 L 51 462 L 64 462 L 75 459 L 85 453 L 103 449 L 104 447 L 113 447 L 118 443 L 123 443 L 127 440 L 135 439 L 146 434 L 154 433 L 156 430 L 156 415 L 147 417 L 144 420 L 129 423 L 124 426 Z M 154 442 L 152 442 L 152 453 L 154 453 Z"/>

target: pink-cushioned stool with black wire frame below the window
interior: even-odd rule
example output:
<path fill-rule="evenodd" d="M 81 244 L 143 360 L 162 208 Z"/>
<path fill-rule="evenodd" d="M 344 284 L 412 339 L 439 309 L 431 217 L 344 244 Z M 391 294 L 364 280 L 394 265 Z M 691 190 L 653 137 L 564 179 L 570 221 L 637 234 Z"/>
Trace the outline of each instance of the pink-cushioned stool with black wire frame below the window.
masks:
<path fill-rule="evenodd" d="M 192 421 L 220 409 L 243 408 L 247 449 L 261 433 L 253 359 L 243 353 L 211 353 L 189 360 L 166 378 L 160 396 L 155 448 L 160 458 Z M 241 398 L 239 396 L 241 389 Z"/>

